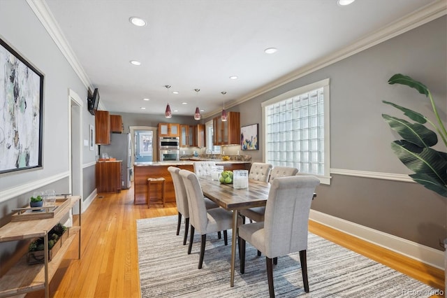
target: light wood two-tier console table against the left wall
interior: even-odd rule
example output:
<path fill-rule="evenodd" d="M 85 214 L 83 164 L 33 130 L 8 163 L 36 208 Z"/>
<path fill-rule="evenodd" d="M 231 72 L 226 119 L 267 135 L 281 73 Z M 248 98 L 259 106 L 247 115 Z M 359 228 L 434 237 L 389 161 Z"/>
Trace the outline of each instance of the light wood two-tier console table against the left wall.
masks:
<path fill-rule="evenodd" d="M 9 222 L 0 228 L 0 242 L 7 241 L 23 241 L 24 239 L 35 239 L 36 237 L 43 237 L 45 243 L 48 241 L 47 231 L 50 231 L 54 225 L 66 218 L 73 206 L 78 202 L 79 210 L 81 210 L 81 199 L 79 196 L 68 197 L 69 204 L 66 204 L 62 209 L 54 214 L 53 218 L 45 218 L 31 221 L 17 221 Z M 48 260 L 48 246 L 44 249 L 44 262 L 29 266 L 27 264 L 27 255 L 25 254 L 18 262 L 11 267 L 6 274 L 0 277 L 0 297 L 10 297 L 15 295 L 24 296 L 27 292 L 33 292 L 45 289 L 45 297 L 50 296 L 50 281 L 56 274 L 61 262 L 64 260 L 64 255 L 75 238 L 78 238 L 78 259 L 81 258 L 81 214 L 78 216 L 79 225 L 70 227 L 68 232 L 68 239 L 62 244 L 57 254 Z M 59 272 L 59 271 L 58 271 Z M 60 276 L 58 276 L 60 278 Z"/>

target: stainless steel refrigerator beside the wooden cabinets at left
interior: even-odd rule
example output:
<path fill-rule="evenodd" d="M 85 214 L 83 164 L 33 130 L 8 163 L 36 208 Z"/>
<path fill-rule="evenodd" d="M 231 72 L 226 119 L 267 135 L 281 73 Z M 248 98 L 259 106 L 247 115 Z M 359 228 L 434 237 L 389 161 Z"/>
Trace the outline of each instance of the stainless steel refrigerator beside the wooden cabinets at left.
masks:
<path fill-rule="evenodd" d="M 110 145 L 101 146 L 101 153 L 108 153 L 110 157 L 122 160 L 121 164 L 121 187 L 129 189 L 131 187 L 132 175 L 132 143 L 131 134 L 110 134 Z"/>

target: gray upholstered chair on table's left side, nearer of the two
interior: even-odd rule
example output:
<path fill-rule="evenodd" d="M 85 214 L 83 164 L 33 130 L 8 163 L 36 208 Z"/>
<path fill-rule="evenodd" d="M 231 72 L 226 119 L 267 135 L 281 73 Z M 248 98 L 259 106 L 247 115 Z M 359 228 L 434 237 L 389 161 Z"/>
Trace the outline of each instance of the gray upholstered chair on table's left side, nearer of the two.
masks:
<path fill-rule="evenodd" d="M 194 232 L 200 233 L 200 258 L 198 269 L 202 269 L 205 255 L 206 236 L 209 233 L 223 230 L 225 245 L 228 245 L 227 229 L 233 227 L 233 213 L 223 208 L 205 208 L 205 200 L 197 175 L 188 170 L 180 170 L 180 176 L 184 181 L 186 194 L 188 195 L 189 216 L 191 222 L 191 237 L 189 239 L 188 254 L 191 254 Z"/>

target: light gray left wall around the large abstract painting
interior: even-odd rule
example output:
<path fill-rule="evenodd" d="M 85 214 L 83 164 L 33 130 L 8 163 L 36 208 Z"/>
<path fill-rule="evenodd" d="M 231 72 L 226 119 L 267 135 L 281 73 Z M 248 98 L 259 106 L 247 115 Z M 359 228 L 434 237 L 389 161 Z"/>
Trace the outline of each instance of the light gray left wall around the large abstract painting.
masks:
<path fill-rule="evenodd" d="M 80 115 L 82 139 L 89 139 L 88 127 L 94 125 L 94 116 L 87 111 L 87 87 L 61 54 L 27 1 L 0 1 L 0 38 L 45 75 L 43 168 L 0 175 L 0 225 L 5 225 L 10 221 L 13 208 L 27 206 L 34 185 L 35 189 L 54 189 L 57 193 L 66 193 L 69 190 L 69 89 L 76 92 L 84 104 Z M 84 146 L 82 164 L 95 161 L 95 152 Z M 91 166 L 85 171 L 88 172 L 89 168 Z M 91 175 L 87 178 L 91 180 Z M 85 182 L 85 177 L 82 179 Z M 48 180 L 52 182 L 46 182 Z M 22 185 L 27 185 L 27 189 L 22 190 Z M 83 190 L 84 195 L 90 194 L 94 189 L 91 184 L 87 185 Z M 8 190 L 17 190 L 17 193 L 14 197 L 10 194 L 5 196 L 4 194 L 10 193 Z M 22 244 L 0 243 L 0 264 L 4 264 Z"/>

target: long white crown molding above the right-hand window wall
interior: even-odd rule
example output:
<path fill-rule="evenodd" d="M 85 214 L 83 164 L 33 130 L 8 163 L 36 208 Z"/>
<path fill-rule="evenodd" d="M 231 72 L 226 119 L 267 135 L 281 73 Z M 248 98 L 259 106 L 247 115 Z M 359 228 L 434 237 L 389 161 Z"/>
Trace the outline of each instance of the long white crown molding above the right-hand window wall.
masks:
<path fill-rule="evenodd" d="M 444 15 L 447 15 L 447 0 L 435 1 L 423 8 L 420 8 L 419 10 L 413 11 L 413 13 L 410 13 L 405 17 L 395 20 L 395 22 L 388 24 L 386 27 L 382 27 L 373 34 L 360 38 L 358 41 L 351 43 L 342 50 L 333 52 L 330 55 L 302 66 L 300 69 L 288 73 L 286 76 L 282 76 L 281 78 L 272 81 L 272 83 L 269 83 L 268 85 L 258 88 L 258 90 L 255 90 L 254 92 L 245 95 L 241 99 L 237 99 L 236 101 L 228 104 L 226 108 L 231 108 L 233 106 L 237 106 L 238 104 L 242 104 L 244 101 L 254 99 L 255 97 L 265 94 L 266 92 L 286 85 L 293 80 L 297 80 L 298 78 L 307 76 L 309 73 L 313 73 L 314 71 L 318 71 L 319 69 L 323 69 L 326 66 L 339 62 L 342 59 L 356 55 L 358 52 L 372 48 L 374 45 L 383 43 L 383 41 L 388 41 L 390 38 L 422 26 L 423 24 L 436 20 L 438 17 L 442 17 Z M 220 109 L 207 113 L 204 117 L 208 118 L 218 113 L 221 113 Z"/>

